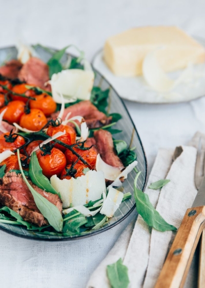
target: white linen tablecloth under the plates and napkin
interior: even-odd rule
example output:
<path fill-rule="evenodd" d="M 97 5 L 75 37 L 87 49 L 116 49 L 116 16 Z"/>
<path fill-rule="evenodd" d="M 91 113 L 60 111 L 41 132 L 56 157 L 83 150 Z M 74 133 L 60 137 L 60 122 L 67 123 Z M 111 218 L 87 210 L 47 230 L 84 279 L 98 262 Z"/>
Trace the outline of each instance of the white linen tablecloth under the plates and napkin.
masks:
<path fill-rule="evenodd" d="M 75 44 L 89 60 L 109 35 L 134 26 L 177 25 L 205 38 L 204 0 L 0 0 L 0 46 L 17 40 L 62 48 Z M 185 145 L 205 129 L 205 98 L 183 104 L 125 101 L 149 169 L 159 147 Z M 1 287 L 83 288 L 132 215 L 111 230 L 74 242 L 38 242 L 0 231 Z"/>

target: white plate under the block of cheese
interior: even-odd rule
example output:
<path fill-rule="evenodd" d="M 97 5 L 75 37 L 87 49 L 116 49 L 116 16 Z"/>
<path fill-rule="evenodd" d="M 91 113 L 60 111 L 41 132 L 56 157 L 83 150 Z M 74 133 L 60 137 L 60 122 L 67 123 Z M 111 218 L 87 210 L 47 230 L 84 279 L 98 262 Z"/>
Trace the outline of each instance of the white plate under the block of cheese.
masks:
<path fill-rule="evenodd" d="M 194 37 L 205 47 L 205 40 Z M 181 83 L 169 93 L 159 93 L 150 88 L 142 76 L 115 76 L 103 60 L 103 50 L 96 53 L 92 64 L 113 85 L 121 98 L 141 103 L 187 102 L 205 95 L 205 63 L 193 65 L 191 80 Z M 183 70 L 168 75 L 176 79 Z"/>

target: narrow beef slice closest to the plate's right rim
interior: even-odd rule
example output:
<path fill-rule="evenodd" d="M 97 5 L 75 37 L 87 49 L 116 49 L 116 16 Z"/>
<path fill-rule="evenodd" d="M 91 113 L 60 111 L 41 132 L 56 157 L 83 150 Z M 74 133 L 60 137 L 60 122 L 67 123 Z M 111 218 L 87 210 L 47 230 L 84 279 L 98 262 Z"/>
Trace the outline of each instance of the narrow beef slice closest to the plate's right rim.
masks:
<path fill-rule="evenodd" d="M 124 165 L 114 150 L 112 134 L 107 130 L 100 129 L 94 132 L 94 138 L 97 151 L 105 163 L 123 169 Z"/>

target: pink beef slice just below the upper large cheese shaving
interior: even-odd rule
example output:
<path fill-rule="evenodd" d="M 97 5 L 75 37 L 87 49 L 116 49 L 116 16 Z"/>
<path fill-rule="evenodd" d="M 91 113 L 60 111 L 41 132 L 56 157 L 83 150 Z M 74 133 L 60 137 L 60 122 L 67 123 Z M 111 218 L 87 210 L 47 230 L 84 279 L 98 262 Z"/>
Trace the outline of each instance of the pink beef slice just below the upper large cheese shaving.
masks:
<path fill-rule="evenodd" d="M 68 113 L 71 113 L 70 117 L 84 117 L 90 129 L 102 127 L 112 121 L 112 117 L 107 117 L 103 112 L 100 112 L 89 100 L 81 101 L 66 108 L 62 117 L 63 120 L 65 120 Z M 58 114 L 59 112 L 53 113 L 51 116 L 55 119 Z"/>

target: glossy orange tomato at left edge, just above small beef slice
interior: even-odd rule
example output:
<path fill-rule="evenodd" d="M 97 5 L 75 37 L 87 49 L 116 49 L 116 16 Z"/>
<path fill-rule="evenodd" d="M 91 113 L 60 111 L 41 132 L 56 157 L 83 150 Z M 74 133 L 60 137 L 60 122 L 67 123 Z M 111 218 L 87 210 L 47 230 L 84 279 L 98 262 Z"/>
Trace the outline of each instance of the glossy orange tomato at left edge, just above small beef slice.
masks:
<path fill-rule="evenodd" d="M 4 106 L 0 112 L 2 112 L 3 110 L 6 110 L 4 116 L 3 116 L 3 120 L 8 121 L 9 123 L 19 123 L 20 118 L 22 117 L 22 115 L 24 114 L 24 107 L 25 107 L 25 103 L 23 101 L 11 101 L 8 103 L 7 106 Z"/>

